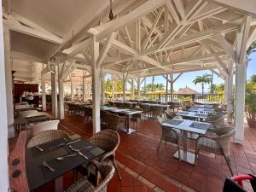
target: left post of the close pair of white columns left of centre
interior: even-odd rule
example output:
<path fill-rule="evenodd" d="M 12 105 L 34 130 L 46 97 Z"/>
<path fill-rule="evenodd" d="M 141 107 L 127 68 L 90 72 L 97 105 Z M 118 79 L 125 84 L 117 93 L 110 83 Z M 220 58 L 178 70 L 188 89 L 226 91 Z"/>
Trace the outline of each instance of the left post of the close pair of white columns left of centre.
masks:
<path fill-rule="evenodd" d="M 53 116 L 58 116 L 58 103 L 57 103 L 57 75 L 55 70 L 55 64 L 52 64 L 51 70 L 55 73 L 51 73 L 51 108 L 52 108 L 52 114 Z"/>

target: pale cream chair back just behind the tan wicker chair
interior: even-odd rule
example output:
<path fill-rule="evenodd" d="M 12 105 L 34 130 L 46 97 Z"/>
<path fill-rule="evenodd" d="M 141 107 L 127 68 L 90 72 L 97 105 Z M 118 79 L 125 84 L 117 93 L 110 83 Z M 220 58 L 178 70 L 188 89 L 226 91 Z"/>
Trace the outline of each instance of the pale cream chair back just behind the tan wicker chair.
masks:
<path fill-rule="evenodd" d="M 49 120 L 42 123 L 38 123 L 36 125 L 32 125 L 31 130 L 31 137 L 36 135 L 39 132 L 48 131 L 48 130 L 57 130 L 60 120 Z"/>

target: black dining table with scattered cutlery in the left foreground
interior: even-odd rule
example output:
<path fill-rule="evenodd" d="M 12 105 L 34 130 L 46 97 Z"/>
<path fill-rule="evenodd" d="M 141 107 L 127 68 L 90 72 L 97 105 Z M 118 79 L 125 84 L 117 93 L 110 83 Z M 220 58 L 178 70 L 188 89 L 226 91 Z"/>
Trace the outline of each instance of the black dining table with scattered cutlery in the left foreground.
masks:
<path fill-rule="evenodd" d="M 63 191 L 62 176 L 104 153 L 83 137 L 59 138 L 26 149 L 26 177 L 29 189 L 55 181 L 55 192 Z M 42 151 L 42 150 L 43 151 Z"/>

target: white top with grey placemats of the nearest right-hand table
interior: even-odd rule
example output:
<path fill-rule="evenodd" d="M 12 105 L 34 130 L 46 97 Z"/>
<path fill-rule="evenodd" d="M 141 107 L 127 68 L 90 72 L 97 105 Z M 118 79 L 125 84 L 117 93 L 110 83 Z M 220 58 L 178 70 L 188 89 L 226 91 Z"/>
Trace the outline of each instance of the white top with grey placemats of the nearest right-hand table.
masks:
<path fill-rule="evenodd" d="M 163 123 L 162 125 L 176 128 L 176 129 L 183 130 L 183 131 L 190 131 L 190 132 L 195 132 L 195 133 L 200 133 L 200 134 L 206 134 L 207 129 L 211 125 L 209 123 L 202 123 L 202 122 L 198 122 L 195 120 L 189 120 L 189 119 L 176 119 L 176 120 L 182 120 L 182 123 L 180 123 L 178 125 L 173 125 L 171 123 L 166 122 L 166 123 Z M 191 127 L 190 125 L 192 125 L 193 123 L 196 125 L 206 125 L 207 128 L 201 129 L 201 128 L 196 128 L 196 127 Z"/>

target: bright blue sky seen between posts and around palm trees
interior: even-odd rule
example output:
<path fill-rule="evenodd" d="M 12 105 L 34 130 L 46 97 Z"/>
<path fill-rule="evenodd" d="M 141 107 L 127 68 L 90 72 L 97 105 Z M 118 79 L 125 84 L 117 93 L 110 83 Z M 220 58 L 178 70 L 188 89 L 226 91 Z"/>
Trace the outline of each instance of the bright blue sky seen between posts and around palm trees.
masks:
<path fill-rule="evenodd" d="M 249 58 L 251 59 L 248 63 L 247 66 L 247 79 L 249 79 L 253 74 L 256 74 L 256 53 L 253 53 L 249 56 Z M 204 70 L 204 71 L 199 71 L 199 72 L 189 72 L 189 73 L 183 73 L 183 75 L 177 79 L 177 81 L 175 82 L 175 84 L 173 85 L 174 90 L 178 90 L 180 88 L 184 88 L 186 86 L 190 87 L 191 89 L 197 90 L 199 92 L 201 92 L 201 84 L 193 84 L 192 81 L 195 79 L 196 76 L 198 75 L 202 75 L 204 73 L 209 73 L 211 74 L 211 71 L 208 70 Z M 177 74 L 174 75 L 174 78 L 177 76 Z M 110 76 L 107 76 L 107 79 Z M 146 79 L 146 83 L 147 84 L 151 84 L 152 82 L 152 77 L 148 77 Z M 154 77 L 154 83 L 155 84 L 164 84 L 166 85 L 166 79 L 164 79 L 162 76 L 155 76 Z M 218 78 L 217 75 L 213 74 L 213 84 L 223 84 L 224 80 Z M 127 84 L 127 88 L 130 89 L 130 85 Z M 144 86 L 144 83 L 142 84 L 142 86 Z M 207 84 L 206 90 L 209 88 L 210 84 Z"/>

